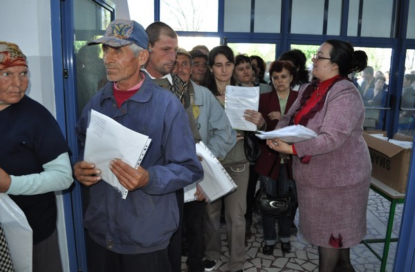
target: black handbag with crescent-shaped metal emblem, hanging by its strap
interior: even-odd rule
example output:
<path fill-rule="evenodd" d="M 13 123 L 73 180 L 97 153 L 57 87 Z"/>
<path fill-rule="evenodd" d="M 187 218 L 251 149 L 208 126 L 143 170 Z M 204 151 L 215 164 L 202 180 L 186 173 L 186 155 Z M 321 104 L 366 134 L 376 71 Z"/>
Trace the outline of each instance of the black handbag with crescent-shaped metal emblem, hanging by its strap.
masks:
<path fill-rule="evenodd" d="M 279 161 L 279 158 L 277 158 L 275 161 Z M 268 176 L 270 176 L 271 172 L 273 172 L 274 166 L 275 162 Z M 269 194 L 266 193 L 266 183 L 269 181 L 269 179 L 270 178 L 267 177 L 264 184 L 255 193 L 252 209 L 255 212 L 259 212 L 263 215 L 268 215 L 270 217 L 290 217 L 291 215 L 293 215 L 294 210 L 293 187 L 290 186 L 288 188 L 288 190 L 284 194 L 284 197 L 271 197 Z"/>

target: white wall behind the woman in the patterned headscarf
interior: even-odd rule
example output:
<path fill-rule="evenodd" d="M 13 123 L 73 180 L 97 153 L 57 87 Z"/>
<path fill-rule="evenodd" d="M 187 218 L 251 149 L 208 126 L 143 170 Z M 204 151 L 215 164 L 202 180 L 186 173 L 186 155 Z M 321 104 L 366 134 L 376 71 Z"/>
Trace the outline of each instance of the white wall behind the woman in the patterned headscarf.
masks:
<path fill-rule="evenodd" d="M 52 0 L 57 1 L 57 0 Z M 1 1 L 0 40 L 17 44 L 28 58 L 28 96 L 55 111 L 50 0 Z M 62 195 L 57 196 L 58 234 L 64 271 L 69 271 Z"/>

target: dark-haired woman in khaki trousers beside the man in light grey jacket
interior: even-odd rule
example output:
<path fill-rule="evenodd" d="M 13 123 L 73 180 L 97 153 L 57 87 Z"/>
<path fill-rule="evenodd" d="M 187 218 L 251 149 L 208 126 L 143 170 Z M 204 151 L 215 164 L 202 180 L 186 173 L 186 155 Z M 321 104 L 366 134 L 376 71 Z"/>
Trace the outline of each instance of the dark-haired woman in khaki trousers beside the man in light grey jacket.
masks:
<path fill-rule="evenodd" d="M 209 68 L 212 80 L 207 86 L 210 91 L 225 105 L 225 89 L 234 85 L 234 55 L 228 46 L 216 46 L 209 53 Z M 243 148 L 243 134 L 237 131 L 237 143 L 221 161 L 230 174 L 237 190 L 223 197 L 225 205 L 226 235 L 229 244 L 229 270 L 243 271 L 245 257 L 245 211 L 246 188 L 248 187 L 249 163 Z M 222 199 L 212 201 L 206 206 L 205 213 L 205 271 L 212 271 L 221 257 L 221 206 Z"/>

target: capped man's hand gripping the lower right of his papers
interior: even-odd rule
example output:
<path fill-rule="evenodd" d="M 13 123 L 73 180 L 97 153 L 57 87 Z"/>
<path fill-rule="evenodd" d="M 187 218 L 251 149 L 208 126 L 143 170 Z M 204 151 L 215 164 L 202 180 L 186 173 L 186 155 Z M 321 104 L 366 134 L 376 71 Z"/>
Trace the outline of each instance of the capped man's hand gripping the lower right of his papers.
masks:
<path fill-rule="evenodd" d="M 120 158 L 114 158 L 109 163 L 109 169 L 116 175 L 118 181 L 132 191 L 142 188 L 149 183 L 149 172 L 139 166 L 137 169 L 124 163 Z"/>

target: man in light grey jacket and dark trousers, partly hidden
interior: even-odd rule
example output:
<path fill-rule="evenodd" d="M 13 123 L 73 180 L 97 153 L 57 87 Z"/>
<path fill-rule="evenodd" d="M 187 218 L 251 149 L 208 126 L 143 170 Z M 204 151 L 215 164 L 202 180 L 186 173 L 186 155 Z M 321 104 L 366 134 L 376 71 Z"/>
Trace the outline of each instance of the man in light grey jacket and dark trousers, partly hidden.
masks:
<path fill-rule="evenodd" d="M 212 156 L 223 160 L 237 142 L 237 133 L 232 129 L 225 111 L 223 111 L 221 105 L 209 89 L 199 86 L 190 80 L 192 75 L 192 55 L 183 48 L 178 48 L 173 72 L 187 83 L 187 91 L 190 93 L 193 109 L 189 118 L 195 120 L 196 127 L 198 128 L 197 134 L 199 134 L 203 143 L 212 153 Z M 205 159 L 204 162 L 206 161 L 208 160 Z M 206 173 L 208 171 L 205 171 L 203 182 L 209 179 L 209 174 Z M 219 177 L 219 174 L 215 174 L 216 179 Z M 200 194 L 200 190 L 197 190 L 195 197 L 198 200 L 200 200 Z M 185 235 L 183 237 L 187 244 L 188 271 L 191 272 L 205 271 L 203 262 L 203 257 L 205 257 L 205 228 L 203 226 L 205 206 L 204 201 L 190 201 L 185 203 L 184 206 L 183 228 L 185 229 Z"/>

